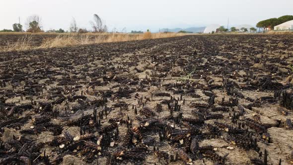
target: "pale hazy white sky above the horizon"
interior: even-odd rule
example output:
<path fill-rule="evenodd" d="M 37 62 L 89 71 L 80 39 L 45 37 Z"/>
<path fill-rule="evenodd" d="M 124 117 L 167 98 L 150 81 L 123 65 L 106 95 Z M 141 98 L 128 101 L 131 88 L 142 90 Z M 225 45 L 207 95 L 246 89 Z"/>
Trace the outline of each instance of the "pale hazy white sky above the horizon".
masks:
<path fill-rule="evenodd" d="M 69 29 L 72 17 L 77 25 L 90 28 L 98 14 L 118 30 L 156 31 L 159 28 L 206 26 L 209 24 L 255 24 L 263 19 L 293 15 L 293 0 L 1 0 L 0 29 L 12 29 L 29 15 L 42 17 L 43 29 Z"/>

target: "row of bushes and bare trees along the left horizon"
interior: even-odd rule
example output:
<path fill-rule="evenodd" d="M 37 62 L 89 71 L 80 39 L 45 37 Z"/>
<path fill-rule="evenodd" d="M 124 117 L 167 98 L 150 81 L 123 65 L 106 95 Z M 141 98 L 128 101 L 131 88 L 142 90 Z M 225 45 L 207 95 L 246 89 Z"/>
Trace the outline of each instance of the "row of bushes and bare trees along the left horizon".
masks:
<path fill-rule="evenodd" d="M 93 14 L 93 21 L 89 22 L 92 27 L 91 32 L 107 32 L 107 26 L 104 24 L 102 21 L 101 17 L 98 16 L 97 14 Z M 42 28 L 42 18 L 39 15 L 31 15 L 27 18 L 25 25 L 27 27 L 26 30 L 23 29 L 23 25 L 20 23 L 14 23 L 12 24 L 11 29 L 3 29 L 0 30 L 0 32 L 31 32 L 31 33 L 38 33 L 38 32 L 44 32 Z M 55 33 L 65 33 L 68 31 L 65 31 L 64 29 L 60 28 L 58 30 L 51 29 L 47 30 L 46 32 L 55 32 Z M 69 32 L 79 32 L 79 33 L 85 33 L 89 32 L 86 28 L 79 28 L 77 26 L 77 23 L 75 21 L 75 18 L 73 17 L 70 27 L 69 27 Z"/>

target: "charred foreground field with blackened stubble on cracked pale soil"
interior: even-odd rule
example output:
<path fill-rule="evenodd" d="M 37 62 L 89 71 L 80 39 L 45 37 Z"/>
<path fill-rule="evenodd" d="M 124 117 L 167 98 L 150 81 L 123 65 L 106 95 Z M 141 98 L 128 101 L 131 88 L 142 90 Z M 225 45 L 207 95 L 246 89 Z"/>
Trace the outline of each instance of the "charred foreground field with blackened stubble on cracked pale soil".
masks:
<path fill-rule="evenodd" d="M 293 37 L 0 53 L 2 165 L 290 165 Z"/>

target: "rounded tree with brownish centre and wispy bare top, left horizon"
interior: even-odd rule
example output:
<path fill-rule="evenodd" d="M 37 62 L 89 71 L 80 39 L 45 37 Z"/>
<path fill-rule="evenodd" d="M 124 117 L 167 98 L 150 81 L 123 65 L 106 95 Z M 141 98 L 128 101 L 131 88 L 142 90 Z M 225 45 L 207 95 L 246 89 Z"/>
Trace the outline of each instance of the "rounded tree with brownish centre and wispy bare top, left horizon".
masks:
<path fill-rule="evenodd" d="M 37 32 L 42 32 L 43 30 L 41 29 L 41 22 L 42 19 L 38 15 L 31 15 L 27 18 L 26 20 L 26 25 L 27 25 L 27 32 L 31 33 L 37 33 Z"/>

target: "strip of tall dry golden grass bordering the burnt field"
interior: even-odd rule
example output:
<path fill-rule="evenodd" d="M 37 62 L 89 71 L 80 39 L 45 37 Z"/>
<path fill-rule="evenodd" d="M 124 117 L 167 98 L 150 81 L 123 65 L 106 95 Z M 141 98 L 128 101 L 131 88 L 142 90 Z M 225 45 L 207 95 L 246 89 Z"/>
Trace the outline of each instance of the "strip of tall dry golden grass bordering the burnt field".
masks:
<path fill-rule="evenodd" d="M 41 34 L 37 33 L 36 35 Z M 46 33 L 47 34 L 47 33 Z M 56 34 L 56 33 L 55 33 Z M 35 34 L 33 34 L 35 35 Z M 0 51 L 23 51 L 29 49 L 39 48 L 54 48 L 54 47 L 66 47 L 73 45 L 84 45 L 84 44 L 97 44 L 106 42 L 123 42 L 123 41 L 134 41 L 143 39 L 155 39 L 155 38 L 168 38 L 183 36 L 183 33 L 150 33 L 144 34 L 124 34 L 124 33 L 85 33 L 85 34 L 61 34 L 53 39 L 46 39 L 40 46 L 32 46 L 32 35 L 25 36 L 15 43 L 8 43 L 7 47 L 0 48 Z"/>

